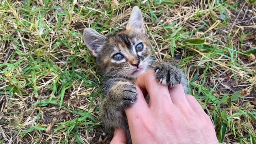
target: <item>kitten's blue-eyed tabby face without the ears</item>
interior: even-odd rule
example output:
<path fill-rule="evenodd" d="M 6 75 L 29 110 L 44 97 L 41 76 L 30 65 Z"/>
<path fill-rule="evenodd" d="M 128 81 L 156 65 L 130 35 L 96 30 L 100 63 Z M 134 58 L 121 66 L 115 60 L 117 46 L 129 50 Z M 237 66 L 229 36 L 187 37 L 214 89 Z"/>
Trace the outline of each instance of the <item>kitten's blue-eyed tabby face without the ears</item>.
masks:
<path fill-rule="evenodd" d="M 106 39 L 97 62 L 110 76 L 137 77 L 145 72 L 150 55 L 146 35 L 124 30 Z"/>

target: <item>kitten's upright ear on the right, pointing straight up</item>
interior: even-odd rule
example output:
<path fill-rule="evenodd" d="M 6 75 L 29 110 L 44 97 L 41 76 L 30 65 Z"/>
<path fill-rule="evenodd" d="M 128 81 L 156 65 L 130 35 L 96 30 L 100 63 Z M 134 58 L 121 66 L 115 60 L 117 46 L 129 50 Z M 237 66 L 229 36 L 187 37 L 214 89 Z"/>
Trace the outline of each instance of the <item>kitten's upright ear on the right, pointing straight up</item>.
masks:
<path fill-rule="evenodd" d="M 138 32 L 142 32 L 143 34 L 146 34 L 142 14 L 138 6 L 134 6 L 132 9 L 132 14 L 126 25 L 126 30 L 128 29 L 137 30 Z"/>

